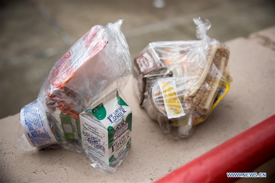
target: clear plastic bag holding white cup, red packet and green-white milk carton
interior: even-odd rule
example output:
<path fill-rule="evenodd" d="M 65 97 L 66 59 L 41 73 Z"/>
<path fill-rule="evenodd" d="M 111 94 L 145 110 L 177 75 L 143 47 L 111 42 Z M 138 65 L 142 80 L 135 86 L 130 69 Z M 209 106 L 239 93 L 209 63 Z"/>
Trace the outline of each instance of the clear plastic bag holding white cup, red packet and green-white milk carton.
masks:
<path fill-rule="evenodd" d="M 99 139 L 98 136 L 110 137 L 107 130 L 109 125 L 115 128 L 121 121 L 126 120 L 130 113 L 132 116 L 131 108 L 125 103 L 121 93 L 131 73 L 128 44 L 120 31 L 122 21 L 117 20 L 106 27 L 95 25 L 56 62 L 37 100 L 21 109 L 22 129 L 19 131 L 17 148 L 31 151 L 62 147 L 85 152 L 92 160 L 92 165 L 106 174 L 112 173 L 122 162 L 121 159 L 128 153 L 131 129 L 127 131 L 126 144 L 120 146 L 120 151 L 116 152 L 111 163 L 102 161 L 112 154 L 108 153 L 110 148 L 104 149 L 104 157 L 95 156 L 97 153 L 103 153 L 101 146 L 108 147 L 108 138 L 104 141 L 105 138 Z M 108 100 L 113 100 L 113 103 L 108 103 L 106 96 L 111 96 Z M 102 107 L 104 104 L 108 108 L 105 112 L 109 113 L 117 110 L 120 103 L 126 104 L 128 115 L 116 123 L 105 121 L 103 124 L 102 116 L 98 117 L 96 112 L 91 112 L 90 115 L 97 122 L 81 123 L 80 113 L 87 110 L 96 111 L 95 103 L 98 100 L 101 100 Z M 106 115 L 109 116 L 109 113 Z M 132 117 L 127 119 L 128 126 L 130 123 Z M 99 130 L 102 134 L 98 134 Z M 126 132 L 120 133 L 124 135 Z M 85 139 L 91 145 L 88 150 L 87 145 L 83 144 Z M 98 140 L 94 141 L 95 139 Z M 100 150 L 102 152 L 99 152 Z"/>

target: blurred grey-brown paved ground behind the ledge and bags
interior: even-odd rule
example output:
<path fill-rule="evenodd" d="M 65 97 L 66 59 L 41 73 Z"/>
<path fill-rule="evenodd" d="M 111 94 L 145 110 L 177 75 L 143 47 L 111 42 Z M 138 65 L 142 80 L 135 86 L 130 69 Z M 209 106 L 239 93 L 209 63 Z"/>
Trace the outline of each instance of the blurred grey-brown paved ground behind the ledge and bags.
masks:
<path fill-rule="evenodd" d="M 192 18 L 212 23 L 220 41 L 274 25 L 274 1 L 1 2 L 0 118 L 36 99 L 54 63 L 95 24 L 123 18 L 132 59 L 152 41 L 195 39 Z"/>

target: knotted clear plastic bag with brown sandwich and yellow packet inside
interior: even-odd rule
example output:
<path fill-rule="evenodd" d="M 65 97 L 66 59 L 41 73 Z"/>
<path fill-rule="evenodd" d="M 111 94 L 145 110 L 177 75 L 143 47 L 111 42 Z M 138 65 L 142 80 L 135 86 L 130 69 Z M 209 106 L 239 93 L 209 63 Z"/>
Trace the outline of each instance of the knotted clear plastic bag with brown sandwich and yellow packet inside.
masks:
<path fill-rule="evenodd" d="M 228 92 L 229 49 L 206 35 L 211 27 L 194 18 L 197 38 L 151 42 L 134 59 L 134 89 L 141 107 L 174 138 L 190 135 Z"/>

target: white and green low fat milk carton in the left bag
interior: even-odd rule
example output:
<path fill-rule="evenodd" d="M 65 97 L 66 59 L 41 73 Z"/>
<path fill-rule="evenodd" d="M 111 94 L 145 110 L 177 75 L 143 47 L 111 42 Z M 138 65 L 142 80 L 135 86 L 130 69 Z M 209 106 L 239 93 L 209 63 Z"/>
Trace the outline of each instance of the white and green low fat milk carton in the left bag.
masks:
<path fill-rule="evenodd" d="M 113 90 L 80 113 L 80 130 L 89 157 L 116 163 L 131 144 L 132 110 Z"/>

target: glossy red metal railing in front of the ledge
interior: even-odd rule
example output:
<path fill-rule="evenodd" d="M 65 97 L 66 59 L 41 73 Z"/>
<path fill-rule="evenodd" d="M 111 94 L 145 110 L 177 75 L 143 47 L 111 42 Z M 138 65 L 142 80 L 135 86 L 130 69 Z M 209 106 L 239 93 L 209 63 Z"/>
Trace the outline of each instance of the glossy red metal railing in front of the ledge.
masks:
<path fill-rule="evenodd" d="M 275 115 L 156 182 L 232 182 L 227 172 L 250 172 L 275 156 Z"/>

